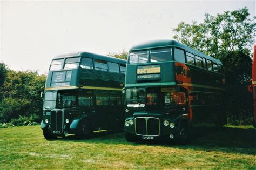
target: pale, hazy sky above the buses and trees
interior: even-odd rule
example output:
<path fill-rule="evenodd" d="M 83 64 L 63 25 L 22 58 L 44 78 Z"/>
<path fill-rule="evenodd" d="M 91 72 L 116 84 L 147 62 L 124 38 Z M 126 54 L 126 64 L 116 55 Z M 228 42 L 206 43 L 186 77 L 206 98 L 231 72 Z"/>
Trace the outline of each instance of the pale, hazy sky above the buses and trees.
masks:
<path fill-rule="evenodd" d="M 134 44 L 171 39 L 181 21 L 247 7 L 255 1 L 2 1 L 0 62 L 46 74 L 57 55 L 128 51 Z"/>

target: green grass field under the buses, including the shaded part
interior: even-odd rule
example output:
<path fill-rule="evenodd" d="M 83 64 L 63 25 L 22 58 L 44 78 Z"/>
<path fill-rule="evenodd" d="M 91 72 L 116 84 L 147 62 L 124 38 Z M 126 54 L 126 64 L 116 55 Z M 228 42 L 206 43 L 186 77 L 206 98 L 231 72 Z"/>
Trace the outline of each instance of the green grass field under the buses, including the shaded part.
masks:
<path fill-rule="evenodd" d="M 256 168 L 256 131 L 226 126 L 185 146 L 130 143 L 123 133 L 45 140 L 39 126 L 0 129 L 0 169 L 10 168 Z"/>

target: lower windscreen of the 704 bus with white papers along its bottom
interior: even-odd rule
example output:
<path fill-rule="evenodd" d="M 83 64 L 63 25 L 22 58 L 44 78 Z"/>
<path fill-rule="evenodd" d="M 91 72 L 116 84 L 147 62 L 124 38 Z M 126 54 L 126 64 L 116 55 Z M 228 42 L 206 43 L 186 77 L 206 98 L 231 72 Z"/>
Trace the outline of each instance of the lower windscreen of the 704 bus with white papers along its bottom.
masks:
<path fill-rule="evenodd" d="M 145 89 L 131 88 L 126 89 L 127 107 L 145 107 Z"/>

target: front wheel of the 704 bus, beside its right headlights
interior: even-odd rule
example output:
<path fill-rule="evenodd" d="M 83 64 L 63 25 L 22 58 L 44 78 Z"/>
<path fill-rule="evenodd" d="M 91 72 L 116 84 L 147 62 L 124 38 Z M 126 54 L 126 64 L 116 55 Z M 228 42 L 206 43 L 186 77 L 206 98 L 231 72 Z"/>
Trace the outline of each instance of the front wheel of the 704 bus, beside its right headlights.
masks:
<path fill-rule="evenodd" d="M 187 144 L 189 138 L 190 138 L 190 128 L 188 127 L 188 125 L 181 124 L 181 128 L 177 133 L 176 143 L 180 145 L 185 145 Z"/>

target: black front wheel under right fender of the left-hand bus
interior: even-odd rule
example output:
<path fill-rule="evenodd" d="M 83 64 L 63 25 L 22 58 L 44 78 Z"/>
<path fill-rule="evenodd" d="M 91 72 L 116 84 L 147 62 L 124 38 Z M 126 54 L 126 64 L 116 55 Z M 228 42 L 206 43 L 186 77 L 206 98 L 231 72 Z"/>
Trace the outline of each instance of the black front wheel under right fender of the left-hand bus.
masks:
<path fill-rule="evenodd" d="M 88 120 L 80 121 L 75 136 L 77 139 L 86 139 L 92 136 L 92 128 Z"/>

